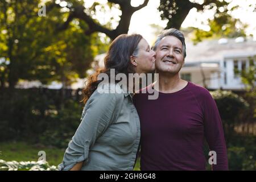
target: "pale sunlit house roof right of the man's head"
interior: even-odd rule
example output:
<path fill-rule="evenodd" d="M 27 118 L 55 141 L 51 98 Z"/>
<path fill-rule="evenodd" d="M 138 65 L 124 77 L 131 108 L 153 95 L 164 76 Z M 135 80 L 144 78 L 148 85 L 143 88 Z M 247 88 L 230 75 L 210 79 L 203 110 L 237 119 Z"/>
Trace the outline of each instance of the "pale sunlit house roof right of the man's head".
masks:
<path fill-rule="evenodd" d="M 233 57 L 249 57 L 256 55 L 256 41 L 242 38 L 204 40 L 196 45 L 186 42 L 187 57 L 185 64 L 195 62 L 216 63 Z"/>

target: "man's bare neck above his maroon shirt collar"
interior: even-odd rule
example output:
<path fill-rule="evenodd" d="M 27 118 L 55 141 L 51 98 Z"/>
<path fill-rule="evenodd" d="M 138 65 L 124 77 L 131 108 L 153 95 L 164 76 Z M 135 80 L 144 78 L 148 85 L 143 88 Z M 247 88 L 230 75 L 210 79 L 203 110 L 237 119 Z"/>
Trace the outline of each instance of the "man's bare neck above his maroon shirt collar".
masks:
<path fill-rule="evenodd" d="M 179 73 L 177 73 L 176 75 L 159 73 L 158 82 L 156 82 L 154 85 L 157 84 L 158 88 L 155 89 L 159 92 L 174 93 L 183 89 L 188 84 L 188 82 L 185 80 L 181 80 L 181 78 L 179 77 Z"/>

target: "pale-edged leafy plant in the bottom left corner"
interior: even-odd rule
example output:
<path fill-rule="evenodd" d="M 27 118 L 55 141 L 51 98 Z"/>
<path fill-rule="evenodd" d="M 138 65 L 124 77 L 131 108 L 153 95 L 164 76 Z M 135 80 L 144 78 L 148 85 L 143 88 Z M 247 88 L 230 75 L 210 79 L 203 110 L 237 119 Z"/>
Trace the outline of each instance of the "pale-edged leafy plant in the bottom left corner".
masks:
<path fill-rule="evenodd" d="M 6 162 L 0 159 L 0 171 L 57 171 L 56 166 L 49 166 L 47 162 L 42 160 L 35 162 Z"/>

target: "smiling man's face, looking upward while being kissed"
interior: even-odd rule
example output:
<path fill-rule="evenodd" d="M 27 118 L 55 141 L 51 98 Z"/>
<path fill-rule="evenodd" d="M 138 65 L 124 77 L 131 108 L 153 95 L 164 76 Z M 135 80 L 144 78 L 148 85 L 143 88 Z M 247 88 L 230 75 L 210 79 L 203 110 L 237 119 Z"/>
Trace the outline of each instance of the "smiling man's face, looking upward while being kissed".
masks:
<path fill-rule="evenodd" d="M 156 72 L 179 73 L 184 64 L 182 43 L 175 36 L 164 37 L 156 48 Z"/>

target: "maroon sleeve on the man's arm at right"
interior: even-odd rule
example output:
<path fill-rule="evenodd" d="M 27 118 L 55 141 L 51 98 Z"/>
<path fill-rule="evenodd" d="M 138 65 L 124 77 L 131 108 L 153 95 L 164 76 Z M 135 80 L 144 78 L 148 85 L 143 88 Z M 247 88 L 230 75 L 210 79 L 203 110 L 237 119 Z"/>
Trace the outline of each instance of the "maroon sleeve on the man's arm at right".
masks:
<path fill-rule="evenodd" d="M 204 97 L 204 132 L 209 150 L 216 152 L 216 164 L 212 169 L 228 170 L 228 156 L 226 142 L 218 108 L 210 93 L 207 91 Z"/>

